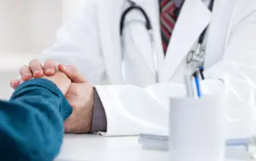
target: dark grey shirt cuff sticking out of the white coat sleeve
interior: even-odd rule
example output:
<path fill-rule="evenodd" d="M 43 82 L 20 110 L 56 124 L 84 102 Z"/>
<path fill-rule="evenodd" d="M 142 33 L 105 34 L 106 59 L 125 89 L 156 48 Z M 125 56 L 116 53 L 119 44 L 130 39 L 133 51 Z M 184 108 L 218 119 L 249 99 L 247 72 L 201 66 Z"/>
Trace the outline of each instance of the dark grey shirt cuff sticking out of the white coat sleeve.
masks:
<path fill-rule="evenodd" d="M 94 113 L 90 132 L 106 132 L 106 113 L 102 101 L 94 88 Z"/>

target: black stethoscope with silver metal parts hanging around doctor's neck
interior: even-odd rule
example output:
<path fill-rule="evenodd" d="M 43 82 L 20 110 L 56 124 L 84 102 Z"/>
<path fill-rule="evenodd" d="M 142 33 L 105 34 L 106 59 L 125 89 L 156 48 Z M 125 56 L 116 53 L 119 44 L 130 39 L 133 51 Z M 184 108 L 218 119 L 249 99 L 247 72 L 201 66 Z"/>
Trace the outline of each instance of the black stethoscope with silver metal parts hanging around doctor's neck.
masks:
<path fill-rule="evenodd" d="M 127 14 L 130 13 L 130 11 L 138 10 L 146 20 L 145 23 L 144 22 L 142 22 L 142 23 L 144 23 L 144 25 L 145 25 L 145 27 L 148 31 L 148 34 L 150 36 L 150 45 L 151 45 L 152 55 L 153 55 L 153 59 L 154 59 L 155 82 L 158 83 L 159 82 L 159 79 L 158 79 L 158 77 L 159 77 L 159 74 L 158 74 L 158 59 L 157 59 L 157 51 L 156 51 L 156 48 L 154 46 L 154 44 L 155 44 L 154 43 L 154 34 L 153 34 L 153 29 L 152 29 L 152 24 L 150 22 L 150 18 L 146 14 L 146 11 L 142 9 L 141 6 L 138 6 L 135 2 L 133 2 L 131 0 L 127 0 L 127 2 L 130 3 L 130 6 L 122 12 L 122 16 L 121 16 L 121 19 L 120 19 L 120 29 L 119 29 L 119 31 L 120 31 L 122 49 L 123 49 L 123 45 L 124 45 L 124 40 L 122 38 L 123 29 L 125 29 L 126 24 L 129 25 L 129 23 L 130 23 L 130 22 L 125 23 L 126 16 L 127 16 Z M 214 5 L 214 0 L 211 0 L 210 5 L 209 5 L 209 10 L 212 10 L 213 5 Z M 179 11 L 180 10 L 178 10 L 178 12 Z M 138 21 L 138 22 L 141 22 L 141 21 Z M 190 66 L 191 65 L 193 65 L 193 66 L 197 65 L 198 67 L 200 66 L 201 70 L 202 70 L 202 65 L 203 65 L 203 62 L 204 62 L 204 57 L 205 57 L 205 54 L 206 54 L 206 52 L 205 52 L 206 45 L 203 44 L 203 41 L 205 39 L 207 29 L 208 29 L 208 27 L 206 27 L 206 29 L 201 33 L 201 35 L 198 39 L 198 43 L 196 43 L 196 45 L 194 45 L 193 49 L 190 49 L 190 52 L 187 54 L 187 57 L 186 57 L 186 64 L 187 65 L 190 65 Z M 122 81 L 123 82 L 126 81 L 126 69 L 125 69 L 124 59 L 125 59 L 124 52 L 122 51 Z"/>

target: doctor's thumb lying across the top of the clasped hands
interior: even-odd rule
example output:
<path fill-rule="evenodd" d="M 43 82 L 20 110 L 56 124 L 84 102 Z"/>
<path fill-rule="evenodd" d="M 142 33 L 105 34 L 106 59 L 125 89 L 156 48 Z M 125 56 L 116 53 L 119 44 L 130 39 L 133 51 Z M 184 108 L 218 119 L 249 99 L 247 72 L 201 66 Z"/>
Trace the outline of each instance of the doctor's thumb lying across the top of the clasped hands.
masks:
<path fill-rule="evenodd" d="M 78 73 L 78 69 L 74 65 L 58 65 L 58 70 L 65 73 L 67 77 L 74 83 L 86 83 L 86 79 L 81 73 Z"/>

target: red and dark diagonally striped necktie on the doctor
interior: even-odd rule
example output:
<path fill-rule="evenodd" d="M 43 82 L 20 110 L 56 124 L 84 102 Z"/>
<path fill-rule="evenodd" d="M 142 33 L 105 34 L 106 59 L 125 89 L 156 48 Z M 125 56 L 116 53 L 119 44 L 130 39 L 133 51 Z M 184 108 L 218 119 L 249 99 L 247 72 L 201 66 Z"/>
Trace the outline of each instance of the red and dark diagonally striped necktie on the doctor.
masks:
<path fill-rule="evenodd" d="M 166 55 L 166 50 L 170 41 L 171 33 L 174 30 L 177 16 L 174 14 L 176 6 L 172 0 L 162 0 L 161 6 L 161 34 L 162 34 L 162 47 Z"/>

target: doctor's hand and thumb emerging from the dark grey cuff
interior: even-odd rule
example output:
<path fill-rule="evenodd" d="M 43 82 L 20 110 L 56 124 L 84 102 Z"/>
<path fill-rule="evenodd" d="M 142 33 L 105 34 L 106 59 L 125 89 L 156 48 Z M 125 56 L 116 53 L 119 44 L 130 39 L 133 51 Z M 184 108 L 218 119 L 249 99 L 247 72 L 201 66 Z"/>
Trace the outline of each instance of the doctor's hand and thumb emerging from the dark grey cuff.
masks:
<path fill-rule="evenodd" d="M 58 65 L 58 69 L 71 80 L 66 100 L 72 106 L 73 112 L 64 123 L 65 132 L 90 132 L 94 104 L 93 87 L 73 65 Z"/>

